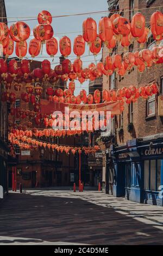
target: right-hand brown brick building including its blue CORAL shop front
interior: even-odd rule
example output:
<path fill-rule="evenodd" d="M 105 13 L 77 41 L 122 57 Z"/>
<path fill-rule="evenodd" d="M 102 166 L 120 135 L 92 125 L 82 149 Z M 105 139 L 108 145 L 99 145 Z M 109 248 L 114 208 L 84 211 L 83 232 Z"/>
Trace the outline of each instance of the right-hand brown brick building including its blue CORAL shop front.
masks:
<path fill-rule="evenodd" d="M 150 26 L 150 17 L 154 11 L 162 12 L 162 1 L 120 0 L 108 1 L 109 12 L 117 10 L 121 16 L 131 17 L 140 11 L 146 18 L 146 27 Z M 135 10 L 133 10 L 135 9 Z M 111 13 L 109 14 L 111 16 Z M 150 28 L 150 27 L 149 27 Z M 155 45 L 152 34 L 148 35 L 145 47 L 151 49 Z M 140 45 L 134 40 L 127 51 L 140 51 Z M 112 56 L 122 54 L 124 49 L 116 45 Z M 109 54 L 103 48 L 103 61 Z M 125 196 L 129 200 L 141 203 L 162 205 L 159 197 L 160 186 L 163 185 L 163 155 L 162 155 L 162 117 L 158 114 L 158 96 L 162 94 L 162 64 L 153 65 L 140 73 L 134 66 L 120 77 L 114 74 L 103 76 L 103 89 L 120 89 L 131 85 L 139 88 L 153 82 L 157 83 L 159 93 L 137 102 L 124 105 L 121 115 L 112 119 L 114 137 L 103 146 L 103 190 L 116 197 Z M 128 130 L 129 124 L 133 129 Z"/>

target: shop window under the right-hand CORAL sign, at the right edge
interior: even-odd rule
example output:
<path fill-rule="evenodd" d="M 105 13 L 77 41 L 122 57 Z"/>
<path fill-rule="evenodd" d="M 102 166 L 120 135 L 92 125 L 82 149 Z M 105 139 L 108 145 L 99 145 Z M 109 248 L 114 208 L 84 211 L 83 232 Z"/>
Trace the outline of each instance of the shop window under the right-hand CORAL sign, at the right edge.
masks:
<path fill-rule="evenodd" d="M 146 160 L 144 163 L 144 189 L 159 191 L 161 184 L 161 160 Z"/>

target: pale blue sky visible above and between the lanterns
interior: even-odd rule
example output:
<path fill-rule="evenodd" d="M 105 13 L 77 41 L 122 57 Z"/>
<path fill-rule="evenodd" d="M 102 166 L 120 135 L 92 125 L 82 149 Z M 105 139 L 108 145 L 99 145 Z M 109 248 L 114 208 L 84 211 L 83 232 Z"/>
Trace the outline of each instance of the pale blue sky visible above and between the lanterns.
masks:
<path fill-rule="evenodd" d="M 56 17 L 53 18 L 52 21 L 52 27 L 54 30 L 54 37 L 59 39 L 67 35 L 71 39 L 72 43 L 72 51 L 71 55 L 68 57 L 70 60 L 75 59 L 74 53 L 73 53 L 73 40 L 74 37 L 78 34 L 82 34 L 82 24 L 83 21 L 87 17 L 92 17 L 97 22 L 101 19 L 102 16 L 106 16 L 108 14 L 108 3 L 106 0 L 5 0 L 5 8 L 7 11 L 7 17 L 8 17 L 8 26 L 10 27 L 12 23 L 22 20 L 22 19 L 36 19 L 37 15 L 42 10 L 47 10 L 49 13 L 51 13 L 52 16 L 55 15 L 69 15 L 69 14 L 79 14 L 79 13 L 89 13 L 92 11 L 106 11 L 106 13 L 103 14 L 89 14 L 89 15 L 81 15 L 81 16 L 70 16 L 70 17 Z M 26 18 L 24 18 L 26 17 Z M 31 35 L 28 39 L 29 40 L 33 38 L 33 27 L 35 27 L 38 22 L 37 19 L 33 21 L 25 21 L 30 29 L 31 29 Z M 75 32 L 75 33 L 70 33 Z M 84 55 L 88 55 L 89 50 L 86 45 L 86 50 Z M 27 54 L 29 56 L 29 54 Z M 48 54 L 46 53 L 45 45 L 43 47 L 42 56 L 41 53 L 39 55 L 41 58 L 35 58 L 36 60 L 43 60 L 48 57 L 48 60 L 52 62 L 52 58 L 49 58 Z M 55 65 L 58 65 L 59 62 L 59 56 L 60 52 L 58 51 L 56 57 L 54 57 L 54 61 L 51 64 L 52 69 L 54 69 Z M 96 59 L 97 61 L 101 59 L 101 54 L 99 54 Z M 83 66 L 89 65 L 91 62 L 95 62 L 94 56 L 89 57 L 83 57 L 81 58 L 83 61 Z M 72 60 L 73 62 L 73 60 Z M 85 82 L 82 85 L 77 81 L 76 82 L 76 91 L 75 95 L 77 95 L 80 92 L 80 89 L 86 89 L 88 93 L 88 84 L 89 82 Z"/>

